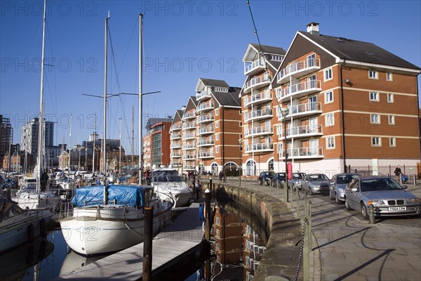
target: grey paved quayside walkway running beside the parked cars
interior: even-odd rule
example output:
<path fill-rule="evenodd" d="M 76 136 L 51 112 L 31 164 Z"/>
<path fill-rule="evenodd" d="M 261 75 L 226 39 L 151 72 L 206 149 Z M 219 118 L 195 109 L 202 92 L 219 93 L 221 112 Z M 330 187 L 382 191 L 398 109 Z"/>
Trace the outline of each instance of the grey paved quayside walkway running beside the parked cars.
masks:
<path fill-rule="evenodd" d="M 283 200 L 282 189 L 247 187 Z M 420 184 L 408 184 L 408 190 L 421 197 Z M 411 220 L 416 226 L 387 220 L 372 225 L 357 211 L 349 214 L 343 204 L 317 195 L 308 198 L 312 201 L 311 280 L 421 280 L 420 219 Z M 295 209 L 295 199 L 290 207 Z M 300 213 L 304 214 L 303 204 Z"/>

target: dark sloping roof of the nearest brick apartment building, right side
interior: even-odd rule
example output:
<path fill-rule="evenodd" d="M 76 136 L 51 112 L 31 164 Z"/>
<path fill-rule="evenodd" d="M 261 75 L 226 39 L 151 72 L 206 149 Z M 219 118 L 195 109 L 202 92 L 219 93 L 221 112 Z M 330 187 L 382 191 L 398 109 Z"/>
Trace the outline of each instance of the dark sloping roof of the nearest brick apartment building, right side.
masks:
<path fill-rule="evenodd" d="M 362 63 L 390 65 L 420 70 L 420 67 L 403 60 L 403 58 L 399 58 L 397 55 L 394 55 L 373 43 L 346 39 L 343 37 L 310 34 L 302 31 L 298 33 L 323 46 L 323 48 L 326 48 L 339 58 L 355 60 Z"/>

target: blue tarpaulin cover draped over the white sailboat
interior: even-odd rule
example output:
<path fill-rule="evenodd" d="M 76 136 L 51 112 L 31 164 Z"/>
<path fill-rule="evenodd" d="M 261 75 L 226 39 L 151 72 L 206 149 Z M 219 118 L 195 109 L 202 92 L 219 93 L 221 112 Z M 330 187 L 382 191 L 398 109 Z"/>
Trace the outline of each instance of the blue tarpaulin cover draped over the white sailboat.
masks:
<path fill-rule="evenodd" d="M 145 190 L 138 185 L 108 185 L 108 202 L 116 204 L 127 204 L 131 206 L 143 206 L 145 204 Z M 96 205 L 104 201 L 104 185 L 88 186 L 74 190 L 72 203 L 74 206 Z"/>

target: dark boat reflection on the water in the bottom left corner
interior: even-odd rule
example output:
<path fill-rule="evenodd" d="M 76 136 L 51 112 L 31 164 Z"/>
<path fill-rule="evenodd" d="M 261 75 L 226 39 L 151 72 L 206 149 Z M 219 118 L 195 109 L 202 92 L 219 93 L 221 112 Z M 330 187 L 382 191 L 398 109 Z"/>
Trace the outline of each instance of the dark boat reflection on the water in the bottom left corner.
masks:
<path fill-rule="evenodd" d="M 30 275 L 37 280 L 40 263 L 53 252 L 54 244 L 39 237 L 33 243 L 25 243 L 0 255 L 0 280 L 22 280 Z"/>

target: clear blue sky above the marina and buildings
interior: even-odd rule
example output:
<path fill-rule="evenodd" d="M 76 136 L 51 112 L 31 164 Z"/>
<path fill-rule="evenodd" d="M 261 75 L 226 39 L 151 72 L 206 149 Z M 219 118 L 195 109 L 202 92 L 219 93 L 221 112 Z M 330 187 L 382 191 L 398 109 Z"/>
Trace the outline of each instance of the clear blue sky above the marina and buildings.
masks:
<path fill-rule="evenodd" d="M 138 14 L 144 13 L 144 120 L 173 116 L 194 96 L 199 78 L 242 86 L 242 58 L 257 43 L 247 1 L 48 1 L 46 32 L 46 117 L 55 144 L 72 145 L 102 134 L 104 22 L 110 11 L 108 93 L 138 93 Z M 250 0 L 261 44 L 288 49 L 309 22 L 320 33 L 369 41 L 421 66 L 420 1 L 257 1 Z M 41 1 L 0 1 L 0 114 L 11 118 L 13 143 L 20 128 L 39 112 Z M 114 57 L 112 56 L 114 51 Z M 114 65 L 115 61 L 115 65 Z M 53 65 L 53 66 L 51 66 Z M 118 73 L 118 80 L 116 79 Z M 418 83 L 421 85 L 420 76 Z M 107 134 L 130 153 L 135 96 L 109 99 Z M 138 153 L 135 121 L 135 153 Z"/>

